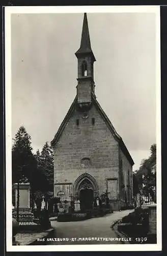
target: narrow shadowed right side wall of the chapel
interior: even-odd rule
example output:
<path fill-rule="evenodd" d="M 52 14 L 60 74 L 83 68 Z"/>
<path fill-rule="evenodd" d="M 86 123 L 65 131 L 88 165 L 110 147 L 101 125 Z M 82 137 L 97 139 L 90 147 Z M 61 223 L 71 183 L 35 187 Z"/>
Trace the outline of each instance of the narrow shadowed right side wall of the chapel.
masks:
<path fill-rule="evenodd" d="M 133 198 L 132 166 L 129 163 L 128 159 L 126 158 L 126 156 L 124 155 L 124 153 L 122 152 L 121 149 L 119 152 L 120 152 L 120 159 L 122 160 L 123 183 L 124 183 L 124 186 L 125 186 L 124 189 L 125 189 L 126 195 L 127 195 L 127 202 L 132 203 L 133 202 L 133 200 L 132 200 L 132 198 Z M 128 176 L 128 172 L 129 172 L 129 176 Z M 128 189 L 129 189 L 129 192 L 128 192 Z M 124 193 L 122 193 L 122 196 L 123 196 L 123 194 Z M 123 198 L 123 201 L 124 201 L 124 198 Z"/>

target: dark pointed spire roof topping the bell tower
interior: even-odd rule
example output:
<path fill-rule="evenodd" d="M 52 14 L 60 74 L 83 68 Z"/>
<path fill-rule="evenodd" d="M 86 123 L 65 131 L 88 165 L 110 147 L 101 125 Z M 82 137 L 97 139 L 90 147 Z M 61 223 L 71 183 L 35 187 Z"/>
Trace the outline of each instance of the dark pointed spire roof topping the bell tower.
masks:
<path fill-rule="evenodd" d="M 89 36 L 89 28 L 88 28 L 88 19 L 87 19 L 87 13 L 84 13 L 84 22 L 82 26 L 82 35 L 81 35 L 81 42 L 80 42 L 80 48 L 79 50 L 75 53 L 77 56 L 79 53 L 91 53 L 91 41 L 90 41 L 90 36 Z M 94 57 L 94 54 L 93 54 Z M 95 57 L 94 57 L 95 60 Z"/>

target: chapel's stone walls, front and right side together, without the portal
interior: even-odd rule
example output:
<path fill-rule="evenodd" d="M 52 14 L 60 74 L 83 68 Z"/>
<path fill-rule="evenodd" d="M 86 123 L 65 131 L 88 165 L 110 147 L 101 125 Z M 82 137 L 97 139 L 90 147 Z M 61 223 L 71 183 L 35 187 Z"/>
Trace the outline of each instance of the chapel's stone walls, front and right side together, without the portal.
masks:
<path fill-rule="evenodd" d="M 107 190 L 113 208 L 124 205 L 124 190 L 127 202 L 132 203 L 132 165 L 94 105 L 84 113 L 73 110 L 54 146 L 54 159 L 55 197 L 63 190 L 65 195 L 62 199 L 70 201 L 71 194 L 76 196 L 75 181 L 89 174 L 98 184 L 95 192 L 101 195 Z M 123 174 L 122 183 L 120 172 Z"/>

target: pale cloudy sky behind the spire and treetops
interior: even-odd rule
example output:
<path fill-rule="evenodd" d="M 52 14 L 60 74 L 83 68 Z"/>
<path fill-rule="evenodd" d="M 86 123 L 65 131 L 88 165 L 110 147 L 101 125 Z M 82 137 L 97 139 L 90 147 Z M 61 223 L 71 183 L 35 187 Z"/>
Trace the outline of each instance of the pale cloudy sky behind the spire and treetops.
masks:
<path fill-rule="evenodd" d="M 156 143 L 154 13 L 87 13 L 98 102 L 135 162 Z M 34 152 L 57 133 L 76 95 L 83 13 L 12 14 L 12 137 Z"/>

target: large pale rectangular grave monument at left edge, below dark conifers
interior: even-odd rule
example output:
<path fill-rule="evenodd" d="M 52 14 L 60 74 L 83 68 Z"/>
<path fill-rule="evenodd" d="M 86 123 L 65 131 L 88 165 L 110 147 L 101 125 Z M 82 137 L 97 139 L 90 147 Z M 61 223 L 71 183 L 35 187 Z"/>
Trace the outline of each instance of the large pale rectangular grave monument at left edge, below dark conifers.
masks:
<path fill-rule="evenodd" d="M 15 189 L 15 208 L 17 207 L 17 183 L 14 184 Z M 19 184 L 19 208 L 30 209 L 30 183 Z"/>

